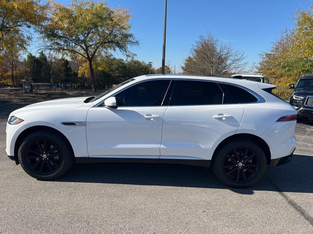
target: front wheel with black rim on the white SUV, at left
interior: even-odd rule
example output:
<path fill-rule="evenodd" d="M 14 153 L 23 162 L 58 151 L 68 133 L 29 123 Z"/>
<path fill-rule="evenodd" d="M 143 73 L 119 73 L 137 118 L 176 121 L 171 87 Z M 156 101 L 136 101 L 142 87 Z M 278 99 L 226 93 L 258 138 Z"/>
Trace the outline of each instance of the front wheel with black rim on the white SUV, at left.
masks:
<path fill-rule="evenodd" d="M 40 130 L 25 137 L 18 156 L 23 170 L 40 180 L 63 176 L 74 162 L 64 138 L 52 131 Z"/>

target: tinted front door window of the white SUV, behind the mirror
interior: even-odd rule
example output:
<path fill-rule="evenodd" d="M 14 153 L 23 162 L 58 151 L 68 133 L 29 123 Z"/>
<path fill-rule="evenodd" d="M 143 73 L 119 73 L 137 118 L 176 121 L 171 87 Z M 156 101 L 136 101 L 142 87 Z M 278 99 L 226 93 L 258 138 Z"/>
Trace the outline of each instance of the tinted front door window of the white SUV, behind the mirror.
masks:
<path fill-rule="evenodd" d="M 150 80 L 135 84 L 114 97 L 117 106 L 160 106 L 170 80 Z"/>

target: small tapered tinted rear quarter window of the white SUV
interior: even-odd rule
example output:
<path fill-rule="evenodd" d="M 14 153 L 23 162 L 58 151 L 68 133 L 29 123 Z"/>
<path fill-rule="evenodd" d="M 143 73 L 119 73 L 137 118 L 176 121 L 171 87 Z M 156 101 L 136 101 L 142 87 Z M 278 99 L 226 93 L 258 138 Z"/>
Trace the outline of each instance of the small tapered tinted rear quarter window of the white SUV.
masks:
<path fill-rule="evenodd" d="M 256 102 L 258 99 L 243 88 L 231 84 L 219 84 L 224 91 L 223 104 Z"/>

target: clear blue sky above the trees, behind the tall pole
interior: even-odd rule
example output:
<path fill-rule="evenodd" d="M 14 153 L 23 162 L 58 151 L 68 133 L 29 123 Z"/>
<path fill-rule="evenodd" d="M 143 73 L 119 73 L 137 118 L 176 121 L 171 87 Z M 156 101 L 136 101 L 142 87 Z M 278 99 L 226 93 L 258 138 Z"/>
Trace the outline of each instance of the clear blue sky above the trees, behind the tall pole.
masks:
<path fill-rule="evenodd" d="M 70 0 L 57 0 L 68 4 Z M 132 32 L 140 41 L 136 59 L 161 66 L 164 0 L 107 0 L 131 10 Z M 294 27 L 296 10 L 312 0 L 168 0 L 166 62 L 180 71 L 199 35 L 211 32 L 245 52 L 249 65 L 259 61 L 282 31 Z M 115 56 L 122 57 L 116 53 Z"/>

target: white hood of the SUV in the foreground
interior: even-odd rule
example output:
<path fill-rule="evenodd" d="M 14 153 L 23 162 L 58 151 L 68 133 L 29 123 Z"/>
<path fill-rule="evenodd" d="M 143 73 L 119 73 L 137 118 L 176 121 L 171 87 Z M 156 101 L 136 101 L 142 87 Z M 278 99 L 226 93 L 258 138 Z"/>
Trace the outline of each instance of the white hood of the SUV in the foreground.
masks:
<path fill-rule="evenodd" d="M 21 112 L 30 112 L 35 110 L 55 110 L 55 109 L 74 109 L 81 107 L 84 104 L 84 100 L 88 97 L 80 98 L 62 98 L 49 101 L 37 102 L 28 106 L 24 106 L 10 114 L 10 116 L 16 115 Z"/>

